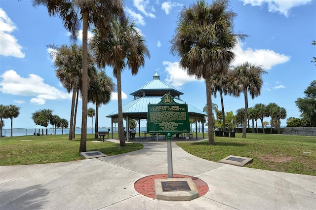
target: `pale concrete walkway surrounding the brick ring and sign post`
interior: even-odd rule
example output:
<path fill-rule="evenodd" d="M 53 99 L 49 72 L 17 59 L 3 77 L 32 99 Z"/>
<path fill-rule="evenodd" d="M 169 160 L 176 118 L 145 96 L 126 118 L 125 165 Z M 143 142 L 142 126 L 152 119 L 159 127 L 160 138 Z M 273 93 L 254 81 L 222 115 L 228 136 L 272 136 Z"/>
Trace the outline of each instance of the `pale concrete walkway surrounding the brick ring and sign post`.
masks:
<path fill-rule="evenodd" d="M 192 201 L 148 198 L 134 189 L 134 183 L 148 175 L 168 173 L 167 144 L 142 143 L 142 150 L 116 156 L 0 166 L 0 210 L 316 209 L 316 176 L 210 162 L 174 142 L 173 173 L 198 177 L 209 191 Z"/>

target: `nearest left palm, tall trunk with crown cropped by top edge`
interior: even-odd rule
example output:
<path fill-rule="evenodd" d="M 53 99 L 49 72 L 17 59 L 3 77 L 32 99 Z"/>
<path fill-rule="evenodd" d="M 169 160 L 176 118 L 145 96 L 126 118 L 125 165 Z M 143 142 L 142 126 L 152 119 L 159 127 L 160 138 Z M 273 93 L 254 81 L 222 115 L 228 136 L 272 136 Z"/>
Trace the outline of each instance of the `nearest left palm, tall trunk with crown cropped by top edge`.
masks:
<path fill-rule="evenodd" d="M 94 25 L 104 39 L 111 19 L 124 16 L 122 0 L 33 0 L 33 5 L 45 5 L 50 16 L 59 15 L 65 28 L 76 39 L 82 20 L 82 120 L 79 152 L 86 151 L 88 104 L 88 29 Z"/>

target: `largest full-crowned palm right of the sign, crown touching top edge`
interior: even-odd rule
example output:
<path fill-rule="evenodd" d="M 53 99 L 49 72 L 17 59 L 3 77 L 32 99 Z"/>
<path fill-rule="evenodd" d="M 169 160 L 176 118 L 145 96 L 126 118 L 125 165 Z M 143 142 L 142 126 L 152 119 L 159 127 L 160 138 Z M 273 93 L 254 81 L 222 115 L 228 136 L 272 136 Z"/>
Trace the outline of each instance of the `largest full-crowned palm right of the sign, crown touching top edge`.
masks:
<path fill-rule="evenodd" d="M 205 80 L 208 141 L 212 145 L 215 140 L 211 76 L 221 74 L 232 61 L 238 37 L 233 33 L 236 13 L 228 5 L 228 0 L 214 0 L 212 4 L 198 0 L 190 8 L 184 8 L 170 41 L 171 53 L 180 57 L 179 66 L 189 75 Z"/>

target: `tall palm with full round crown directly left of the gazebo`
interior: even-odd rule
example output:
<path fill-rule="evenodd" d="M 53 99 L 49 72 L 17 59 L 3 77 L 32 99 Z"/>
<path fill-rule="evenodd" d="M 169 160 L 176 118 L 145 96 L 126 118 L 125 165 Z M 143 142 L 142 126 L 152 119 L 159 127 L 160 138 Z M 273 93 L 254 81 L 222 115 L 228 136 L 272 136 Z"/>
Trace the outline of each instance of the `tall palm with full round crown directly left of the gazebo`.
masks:
<path fill-rule="evenodd" d="M 91 40 L 91 48 L 96 56 L 97 66 L 112 66 L 113 75 L 117 78 L 118 139 L 120 146 L 125 146 L 120 74 L 128 67 L 132 75 L 136 75 L 139 67 L 145 64 L 145 56 L 150 57 L 149 50 L 144 36 L 135 28 L 135 22 L 130 22 L 128 18 L 114 18 L 106 40 L 102 40 L 98 30 L 93 32 L 95 35 Z"/>

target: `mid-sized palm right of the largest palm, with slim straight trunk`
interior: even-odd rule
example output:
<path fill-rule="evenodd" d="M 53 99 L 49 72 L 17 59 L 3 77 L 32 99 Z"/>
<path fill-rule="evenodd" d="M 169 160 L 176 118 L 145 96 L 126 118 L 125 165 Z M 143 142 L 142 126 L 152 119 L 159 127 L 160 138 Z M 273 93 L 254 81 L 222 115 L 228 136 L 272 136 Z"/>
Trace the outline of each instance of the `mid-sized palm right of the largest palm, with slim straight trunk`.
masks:
<path fill-rule="evenodd" d="M 245 62 L 230 71 L 230 87 L 233 88 L 231 94 L 239 97 L 244 94 L 245 118 L 242 130 L 242 138 L 246 138 L 247 114 L 248 114 L 248 91 L 252 99 L 259 96 L 263 85 L 262 74 L 267 73 L 261 66 L 256 66 Z"/>

